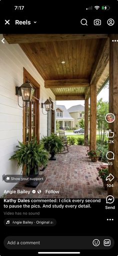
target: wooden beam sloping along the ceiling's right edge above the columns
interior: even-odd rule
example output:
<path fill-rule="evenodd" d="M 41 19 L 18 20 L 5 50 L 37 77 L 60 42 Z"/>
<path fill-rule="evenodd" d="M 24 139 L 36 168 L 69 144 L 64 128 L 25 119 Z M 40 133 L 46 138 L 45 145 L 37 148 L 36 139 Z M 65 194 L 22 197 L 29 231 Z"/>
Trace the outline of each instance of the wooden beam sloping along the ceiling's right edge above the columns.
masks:
<path fill-rule="evenodd" d="M 96 84 L 109 60 L 109 39 L 103 39 L 90 75 L 90 84 Z"/>

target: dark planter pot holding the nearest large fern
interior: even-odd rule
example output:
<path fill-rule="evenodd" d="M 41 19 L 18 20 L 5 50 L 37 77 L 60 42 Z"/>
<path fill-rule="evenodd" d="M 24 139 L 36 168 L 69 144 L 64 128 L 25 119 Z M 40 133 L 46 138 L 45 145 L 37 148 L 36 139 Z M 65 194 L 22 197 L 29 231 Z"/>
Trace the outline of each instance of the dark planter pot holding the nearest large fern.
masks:
<path fill-rule="evenodd" d="M 39 184 L 39 181 L 35 181 L 33 178 L 35 178 L 37 176 L 38 176 L 38 170 L 35 173 L 34 169 L 31 169 L 30 173 L 29 173 L 29 176 L 28 176 L 29 181 L 25 184 L 25 187 L 36 188 L 37 185 Z"/>

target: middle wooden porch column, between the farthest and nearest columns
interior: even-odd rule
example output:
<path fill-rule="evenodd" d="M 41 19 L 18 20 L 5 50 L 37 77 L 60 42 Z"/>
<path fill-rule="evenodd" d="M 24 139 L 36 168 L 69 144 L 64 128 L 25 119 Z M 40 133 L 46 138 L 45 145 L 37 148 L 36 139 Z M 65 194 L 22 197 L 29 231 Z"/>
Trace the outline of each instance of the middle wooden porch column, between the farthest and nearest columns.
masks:
<path fill-rule="evenodd" d="M 90 150 L 96 150 L 96 84 L 90 84 Z"/>

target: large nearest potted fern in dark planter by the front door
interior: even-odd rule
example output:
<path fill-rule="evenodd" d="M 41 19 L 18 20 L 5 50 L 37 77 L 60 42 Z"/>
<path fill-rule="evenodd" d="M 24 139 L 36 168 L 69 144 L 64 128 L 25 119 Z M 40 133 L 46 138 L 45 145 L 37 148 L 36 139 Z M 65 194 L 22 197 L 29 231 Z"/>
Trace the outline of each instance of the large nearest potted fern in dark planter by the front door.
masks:
<path fill-rule="evenodd" d="M 28 177 L 36 177 L 38 175 L 38 167 L 46 167 L 48 162 L 48 153 L 44 151 L 42 145 L 37 143 L 36 138 L 34 141 L 23 144 L 18 142 L 16 146 L 17 151 L 10 157 L 9 160 L 16 160 L 17 167 L 25 169 Z M 27 187 L 36 187 L 39 184 L 38 181 L 28 181 L 25 185 Z"/>

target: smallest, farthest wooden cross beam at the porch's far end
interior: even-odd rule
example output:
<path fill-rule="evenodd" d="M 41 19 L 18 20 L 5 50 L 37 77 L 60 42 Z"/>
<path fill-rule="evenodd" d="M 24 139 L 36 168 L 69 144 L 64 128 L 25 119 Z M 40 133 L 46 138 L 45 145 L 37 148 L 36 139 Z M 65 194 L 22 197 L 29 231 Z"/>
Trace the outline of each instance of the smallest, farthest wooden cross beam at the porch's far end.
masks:
<path fill-rule="evenodd" d="M 56 95 L 55 100 L 84 100 L 84 95 Z"/>

